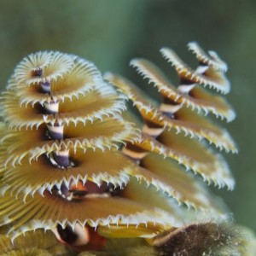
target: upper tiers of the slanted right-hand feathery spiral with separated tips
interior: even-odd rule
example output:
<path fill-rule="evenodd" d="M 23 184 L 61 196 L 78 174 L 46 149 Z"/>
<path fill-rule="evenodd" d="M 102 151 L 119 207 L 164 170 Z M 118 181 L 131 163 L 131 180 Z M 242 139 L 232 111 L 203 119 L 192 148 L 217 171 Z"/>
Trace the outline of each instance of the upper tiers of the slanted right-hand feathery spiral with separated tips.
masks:
<path fill-rule="evenodd" d="M 235 119 L 236 114 L 222 96 L 211 94 L 202 88 L 209 87 L 228 93 L 230 82 L 224 76 L 227 65 L 215 52 L 209 51 L 207 54 L 195 42 L 189 43 L 188 47 L 199 61 L 195 70 L 188 67 L 172 49 L 160 49 L 163 57 L 177 71 L 180 79 L 177 86 L 173 85 L 154 63 L 144 59 L 131 61 L 131 66 L 137 69 L 143 79 L 148 79 L 148 83 L 154 84 L 159 91 L 163 99 L 159 106 L 150 102 L 143 92 L 127 79 L 113 73 L 107 73 L 105 79 L 123 91 L 141 113 L 145 124 L 144 139 L 143 143 L 136 143 L 136 147 L 141 148 L 142 157 L 138 158 L 143 161 L 144 166 L 154 170 L 159 168 L 159 164 L 151 164 L 156 160 L 145 156 L 148 151 L 160 152 L 165 157 L 177 160 L 187 169 L 201 174 L 207 183 L 214 183 L 218 187 L 226 185 L 233 189 L 235 181 L 224 158 L 206 143 L 233 153 L 237 152 L 236 143 L 228 131 L 215 125 L 207 118 L 207 114 L 213 113 L 227 121 Z M 136 122 L 136 119 L 133 121 Z M 135 145 L 128 145 L 125 154 L 133 155 L 133 150 L 129 150 L 129 147 L 135 148 Z M 168 165 L 165 160 L 159 161 L 163 166 Z"/>

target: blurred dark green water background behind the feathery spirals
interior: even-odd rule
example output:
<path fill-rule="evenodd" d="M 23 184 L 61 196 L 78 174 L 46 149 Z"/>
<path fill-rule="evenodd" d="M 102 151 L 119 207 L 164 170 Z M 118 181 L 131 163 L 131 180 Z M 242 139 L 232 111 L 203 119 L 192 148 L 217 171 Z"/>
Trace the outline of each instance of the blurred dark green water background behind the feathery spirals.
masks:
<path fill-rule="evenodd" d="M 162 46 L 172 47 L 189 64 L 195 64 L 186 49 L 189 41 L 215 49 L 230 67 L 228 99 L 237 119 L 224 125 L 240 149 L 226 156 L 236 189 L 217 193 L 237 223 L 256 230 L 256 1 L 0 0 L 0 6 L 1 90 L 25 55 L 57 49 L 95 62 L 102 72 L 121 73 L 153 96 L 155 91 L 129 67 L 131 58 L 147 57 L 166 69 Z"/>

